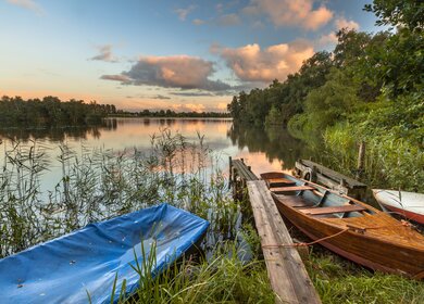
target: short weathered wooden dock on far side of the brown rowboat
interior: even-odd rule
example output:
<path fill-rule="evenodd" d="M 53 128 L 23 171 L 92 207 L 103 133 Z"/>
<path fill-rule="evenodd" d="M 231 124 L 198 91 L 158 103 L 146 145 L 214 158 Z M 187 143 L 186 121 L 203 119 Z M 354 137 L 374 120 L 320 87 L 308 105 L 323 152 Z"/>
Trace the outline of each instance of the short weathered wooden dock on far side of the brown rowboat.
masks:
<path fill-rule="evenodd" d="M 332 170 L 323 165 L 308 160 L 296 162 L 296 174 L 315 183 L 321 183 L 345 195 L 361 200 L 365 195 L 366 185 L 353 178 Z"/>

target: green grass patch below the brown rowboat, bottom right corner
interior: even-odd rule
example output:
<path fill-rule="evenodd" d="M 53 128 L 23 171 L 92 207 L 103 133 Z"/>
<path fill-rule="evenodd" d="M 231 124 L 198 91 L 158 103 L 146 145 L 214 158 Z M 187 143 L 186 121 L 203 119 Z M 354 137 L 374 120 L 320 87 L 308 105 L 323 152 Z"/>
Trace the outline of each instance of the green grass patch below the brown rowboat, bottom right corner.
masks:
<path fill-rule="evenodd" d="M 424 303 L 424 283 L 372 273 L 328 252 L 312 253 L 307 269 L 323 303 Z"/>

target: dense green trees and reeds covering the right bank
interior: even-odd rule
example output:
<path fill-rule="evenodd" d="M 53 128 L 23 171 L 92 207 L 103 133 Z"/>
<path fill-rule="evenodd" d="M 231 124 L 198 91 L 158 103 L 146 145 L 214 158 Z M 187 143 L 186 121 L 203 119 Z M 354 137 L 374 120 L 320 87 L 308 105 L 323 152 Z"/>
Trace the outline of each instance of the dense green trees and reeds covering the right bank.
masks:
<path fill-rule="evenodd" d="M 228 104 L 235 123 L 282 125 L 323 143 L 323 162 L 371 187 L 424 191 L 424 4 L 374 1 L 365 11 L 389 29 L 337 33 L 332 52 L 317 52 L 284 83 L 240 92 Z M 386 27 L 387 28 L 387 27 Z"/>

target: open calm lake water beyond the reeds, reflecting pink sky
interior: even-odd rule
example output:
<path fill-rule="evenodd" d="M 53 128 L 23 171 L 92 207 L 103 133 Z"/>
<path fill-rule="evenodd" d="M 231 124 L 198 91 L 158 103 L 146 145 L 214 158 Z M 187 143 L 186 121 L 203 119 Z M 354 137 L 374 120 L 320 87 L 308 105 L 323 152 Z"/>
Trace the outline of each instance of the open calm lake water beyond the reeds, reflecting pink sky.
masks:
<path fill-rule="evenodd" d="M 102 126 L 59 129 L 2 129 L 0 130 L 0 163 L 5 151 L 13 149 L 13 141 L 24 147 L 35 141 L 47 154 L 49 170 L 43 174 L 42 189 L 51 190 L 62 177 L 58 160 L 60 144 L 82 153 L 84 150 L 113 150 L 116 153 L 136 148 L 139 151 L 150 148 L 154 134 L 163 129 L 179 132 L 189 142 L 197 142 L 204 136 L 205 144 L 220 156 L 220 167 L 228 170 L 228 156 L 244 157 L 253 172 L 290 170 L 297 159 L 309 157 L 313 153 L 305 145 L 280 128 L 261 130 L 258 128 L 238 129 L 232 119 L 213 118 L 109 118 Z"/>

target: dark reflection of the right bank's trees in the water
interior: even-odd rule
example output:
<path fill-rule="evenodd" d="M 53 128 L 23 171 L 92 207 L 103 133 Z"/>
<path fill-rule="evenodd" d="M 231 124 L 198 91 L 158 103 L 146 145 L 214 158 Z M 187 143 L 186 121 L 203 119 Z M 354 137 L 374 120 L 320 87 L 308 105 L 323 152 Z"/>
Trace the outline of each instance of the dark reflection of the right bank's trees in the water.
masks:
<path fill-rule="evenodd" d="M 310 144 L 289 135 L 280 126 L 258 128 L 249 125 L 233 124 L 227 137 L 239 149 L 247 147 L 249 152 L 263 152 L 269 161 L 284 162 L 284 169 L 295 166 L 298 159 L 320 159 L 319 149 L 311 149 Z M 316 145 L 312 145 L 316 147 Z"/>

